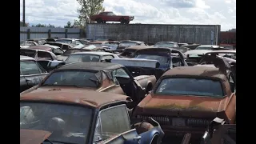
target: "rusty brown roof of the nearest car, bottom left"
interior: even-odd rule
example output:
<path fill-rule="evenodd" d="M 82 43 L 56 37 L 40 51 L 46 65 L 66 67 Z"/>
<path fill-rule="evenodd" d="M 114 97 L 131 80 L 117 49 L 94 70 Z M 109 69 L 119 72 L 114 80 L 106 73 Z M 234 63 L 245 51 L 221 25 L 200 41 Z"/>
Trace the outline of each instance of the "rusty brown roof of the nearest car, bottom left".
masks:
<path fill-rule="evenodd" d="M 113 102 L 125 102 L 126 95 L 93 90 L 48 90 L 22 94 L 20 101 L 60 102 L 100 108 Z"/>

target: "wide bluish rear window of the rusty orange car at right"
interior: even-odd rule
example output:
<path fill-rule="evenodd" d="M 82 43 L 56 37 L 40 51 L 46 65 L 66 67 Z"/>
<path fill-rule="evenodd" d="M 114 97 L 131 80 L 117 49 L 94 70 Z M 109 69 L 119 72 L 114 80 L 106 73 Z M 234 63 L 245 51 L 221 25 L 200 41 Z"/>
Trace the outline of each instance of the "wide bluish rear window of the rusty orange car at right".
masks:
<path fill-rule="evenodd" d="M 209 97 L 224 96 L 221 82 L 202 78 L 163 79 L 155 94 L 178 94 Z"/>

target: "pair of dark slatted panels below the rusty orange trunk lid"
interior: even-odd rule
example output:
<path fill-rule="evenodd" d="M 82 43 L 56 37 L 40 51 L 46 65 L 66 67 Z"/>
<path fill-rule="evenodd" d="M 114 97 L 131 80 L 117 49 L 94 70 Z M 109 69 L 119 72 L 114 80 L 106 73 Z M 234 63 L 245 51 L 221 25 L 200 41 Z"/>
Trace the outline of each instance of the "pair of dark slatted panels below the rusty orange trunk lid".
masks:
<path fill-rule="evenodd" d="M 165 117 L 165 116 L 141 116 L 138 115 L 137 118 L 142 118 L 144 120 L 147 117 L 151 117 L 156 120 L 160 125 L 172 125 L 172 117 Z M 183 118 L 185 120 L 186 126 L 192 127 L 207 127 L 212 120 L 208 119 L 199 119 L 199 118 Z"/>

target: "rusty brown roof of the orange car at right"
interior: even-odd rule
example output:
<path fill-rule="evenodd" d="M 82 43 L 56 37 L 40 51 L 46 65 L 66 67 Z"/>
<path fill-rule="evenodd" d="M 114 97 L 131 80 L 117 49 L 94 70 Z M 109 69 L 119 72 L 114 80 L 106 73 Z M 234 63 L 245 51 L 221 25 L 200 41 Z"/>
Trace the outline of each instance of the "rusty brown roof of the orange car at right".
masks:
<path fill-rule="evenodd" d="M 210 66 L 179 66 L 166 71 L 163 76 L 186 76 L 186 77 L 202 77 L 202 78 L 218 78 L 226 80 L 226 75 L 222 74 L 216 67 Z"/>

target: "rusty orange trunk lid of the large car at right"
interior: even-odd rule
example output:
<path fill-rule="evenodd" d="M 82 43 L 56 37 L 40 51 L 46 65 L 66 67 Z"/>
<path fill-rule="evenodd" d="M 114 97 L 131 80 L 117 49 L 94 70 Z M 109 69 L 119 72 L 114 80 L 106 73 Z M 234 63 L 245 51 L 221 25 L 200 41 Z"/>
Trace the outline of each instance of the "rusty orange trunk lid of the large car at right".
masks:
<path fill-rule="evenodd" d="M 138 104 L 138 114 L 159 114 L 178 116 L 182 111 L 183 116 L 195 117 L 213 114 L 225 110 L 228 98 L 209 98 L 184 95 L 156 95 L 149 94 Z"/>

